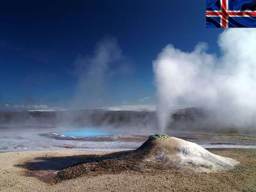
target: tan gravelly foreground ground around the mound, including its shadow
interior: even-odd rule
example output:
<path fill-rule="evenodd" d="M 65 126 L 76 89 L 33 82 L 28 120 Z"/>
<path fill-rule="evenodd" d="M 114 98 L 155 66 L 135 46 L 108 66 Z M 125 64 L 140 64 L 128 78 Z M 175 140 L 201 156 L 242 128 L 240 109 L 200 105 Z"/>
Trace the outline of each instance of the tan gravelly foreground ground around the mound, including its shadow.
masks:
<path fill-rule="evenodd" d="M 1 192 L 84 192 L 84 191 L 201 191 L 256 192 L 256 150 L 212 149 L 210 152 L 241 162 L 235 170 L 221 173 L 194 173 L 180 170 L 121 172 L 84 175 L 57 184 L 43 182 L 56 170 L 71 166 L 88 156 L 104 152 L 75 150 L 0 153 Z M 109 152 L 108 152 L 109 153 Z"/>

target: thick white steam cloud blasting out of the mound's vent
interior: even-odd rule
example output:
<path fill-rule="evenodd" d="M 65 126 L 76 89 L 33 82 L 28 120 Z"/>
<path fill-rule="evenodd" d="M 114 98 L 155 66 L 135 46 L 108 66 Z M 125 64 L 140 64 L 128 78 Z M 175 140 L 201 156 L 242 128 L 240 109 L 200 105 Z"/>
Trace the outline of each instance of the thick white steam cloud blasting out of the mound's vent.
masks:
<path fill-rule="evenodd" d="M 256 112 L 256 30 L 228 29 L 218 37 L 219 58 L 206 43 L 192 52 L 168 44 L 153 62 L 158 124 L 166 128 L 177 105 L 212 112 L 208 123 L 254 128 Z"/>

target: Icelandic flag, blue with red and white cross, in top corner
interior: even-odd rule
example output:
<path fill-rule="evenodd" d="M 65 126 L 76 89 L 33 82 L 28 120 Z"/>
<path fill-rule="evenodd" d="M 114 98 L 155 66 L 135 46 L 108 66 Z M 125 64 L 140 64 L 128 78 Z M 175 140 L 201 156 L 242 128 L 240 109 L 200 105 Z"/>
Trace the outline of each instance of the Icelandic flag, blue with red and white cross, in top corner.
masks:
<path fill-rule="evenodd" d="M 256 0 L 206 0 L 206 27 L 256 27 Z"/>

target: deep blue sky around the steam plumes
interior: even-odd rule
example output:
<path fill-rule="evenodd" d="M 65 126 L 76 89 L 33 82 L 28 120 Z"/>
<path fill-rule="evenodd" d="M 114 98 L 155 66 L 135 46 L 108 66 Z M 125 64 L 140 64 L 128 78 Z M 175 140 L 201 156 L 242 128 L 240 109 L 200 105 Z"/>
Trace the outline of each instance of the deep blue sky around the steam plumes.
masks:
<path fill-rule="evenodd" d="M 0 7 L 0 103 L 65 106 L 74 99 L 75 62 L 116 38 L 130 72 L 108 83 L 108 104 L 154 104 L 152 61 L 167 44 L 198 42 L 219 54 L 222 29 L 206 28 L 204 0 L 4 1 Z M 113 69 L 114 70 L 114 69 Z M 142 98 L 150 97 L 142 102 Z"/>

